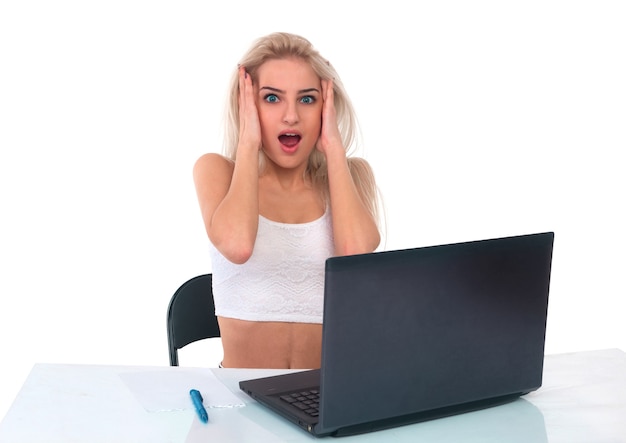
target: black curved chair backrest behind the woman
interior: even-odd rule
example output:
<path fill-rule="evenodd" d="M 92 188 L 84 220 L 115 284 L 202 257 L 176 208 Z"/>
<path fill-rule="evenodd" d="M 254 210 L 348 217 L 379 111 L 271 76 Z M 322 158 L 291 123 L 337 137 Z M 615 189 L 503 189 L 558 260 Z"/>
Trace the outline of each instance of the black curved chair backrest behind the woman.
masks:
<path fill-rule="evenodd" d="M 170 365 L 178 366 L 180 348 L 212 337 L 220 337 L 220 327 L 213 304 L 212 276 L 203 274 L 183 283 L 167 308 Z"/>

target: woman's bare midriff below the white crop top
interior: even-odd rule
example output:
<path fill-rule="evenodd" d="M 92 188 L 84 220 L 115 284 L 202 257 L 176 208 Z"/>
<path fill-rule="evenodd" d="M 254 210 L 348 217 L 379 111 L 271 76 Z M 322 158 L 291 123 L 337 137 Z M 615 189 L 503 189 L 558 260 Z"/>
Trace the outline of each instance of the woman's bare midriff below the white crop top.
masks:
<path fill-rule="evenodd" d="M 320 367 L 322 325 L 219 317 L 225 368 Z"/>

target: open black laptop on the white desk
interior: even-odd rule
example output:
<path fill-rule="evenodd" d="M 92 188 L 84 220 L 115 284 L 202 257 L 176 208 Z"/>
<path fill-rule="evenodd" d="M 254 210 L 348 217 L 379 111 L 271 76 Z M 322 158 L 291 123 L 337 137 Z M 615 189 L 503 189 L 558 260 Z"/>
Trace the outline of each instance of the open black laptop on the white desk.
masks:
<path fill-rule="evenodd" d="M 554 233 L 332 257 L 321 368 L 240 388 L 312 435 L 507 403 L 541 387 Z"/>

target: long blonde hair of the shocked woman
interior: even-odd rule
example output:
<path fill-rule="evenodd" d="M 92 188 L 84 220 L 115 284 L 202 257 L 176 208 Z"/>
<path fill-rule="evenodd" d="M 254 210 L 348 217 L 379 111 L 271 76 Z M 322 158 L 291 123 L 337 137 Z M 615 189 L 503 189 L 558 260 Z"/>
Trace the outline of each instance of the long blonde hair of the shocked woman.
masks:
<path fill-rule="evenodd" d="M 269 60 L 299 58 L 308 63 L 313 71 L 322 80 L 333 80 L 334 104 L 337 116 L 339 132 L 342 136 L 343 146 L 348 155 L 348 165 L 355 185 L 360 190 L 361 198 L 379 222 L 379 198 L 378 188 L 374 175 L 368 163 L 361 158 L 350 157 L 356 150 L 358 136 L 358 122 L 352 102 L 331 63 L 323 58 L 320 53 L 304 37 L 285 32 L 276 32 L 257 39 L 250 49 L 243 55 L 238 66 L 243 66 L 252 81 L 257 80 L 258 69 Z M 239 143 L 239 69 L 235 69 L 229 86 L 229 95 L 226 103 L 225 128 L 224 128 L 224 154 L 231 160 L 237 156 Z M 263 169 L 264 156 L 259 156 L 259 168 Z M 324 198 L 328 199 L 328 170 L 324 154 L 314 149 L 309 156 L 308 166 L 305 172 L 313 186 L 319 187 Z"/>

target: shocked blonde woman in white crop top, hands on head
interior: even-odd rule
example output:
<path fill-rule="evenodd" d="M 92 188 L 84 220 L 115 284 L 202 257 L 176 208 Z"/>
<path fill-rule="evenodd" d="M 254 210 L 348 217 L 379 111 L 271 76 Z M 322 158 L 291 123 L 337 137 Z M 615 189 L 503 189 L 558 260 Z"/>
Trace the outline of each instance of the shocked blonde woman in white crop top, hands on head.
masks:
<path fill-rule="evenodd" d="M 231 83 L 226 156 L 195 164 L 224 367 L 316 368 L 324 261 L 374 251 L 377 188 L 350 158 L 356 119 L 304 38 L 263 37 Z"/>

